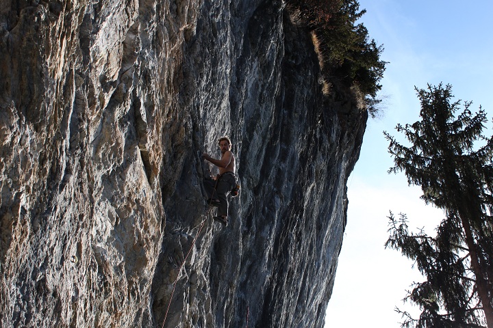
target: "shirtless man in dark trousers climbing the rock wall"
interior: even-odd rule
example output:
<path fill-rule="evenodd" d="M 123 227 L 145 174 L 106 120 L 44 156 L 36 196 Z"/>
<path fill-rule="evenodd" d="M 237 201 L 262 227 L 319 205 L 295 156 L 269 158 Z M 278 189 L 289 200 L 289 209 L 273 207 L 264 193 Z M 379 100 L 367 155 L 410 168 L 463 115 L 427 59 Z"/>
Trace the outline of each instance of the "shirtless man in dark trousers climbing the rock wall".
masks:
<path fill-rule="evenodd" d="M 207 202 L 212 206 L 218 207 L 215 221 L 227 226 L 228 221 L 228 201 L 227 195 L 229 191 L 236 187 L 235 162 L 234 155 L 231 152 L 231 141 L 228 137 L 220 137 L 219 148 L 221 151 L 221 159 L 213 159 L 209 154 L 203 153 L 202 157 L 206 161 L 216 165 L 219 168 L 219 175 L 215 180 L 206 178 L 204 180 L 205 191 L 207 191 Z M 216 190 L 214 190 L 216 187 Z"/>

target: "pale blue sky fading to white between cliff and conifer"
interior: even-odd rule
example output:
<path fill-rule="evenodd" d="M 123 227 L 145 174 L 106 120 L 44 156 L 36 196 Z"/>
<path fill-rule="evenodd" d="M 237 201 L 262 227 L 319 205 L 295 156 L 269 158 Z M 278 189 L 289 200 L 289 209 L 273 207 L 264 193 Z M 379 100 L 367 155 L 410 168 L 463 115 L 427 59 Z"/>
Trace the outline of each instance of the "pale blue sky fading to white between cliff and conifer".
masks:
<path fill-rule="evenodd" d="M 389 210 L 406 213 L 409 227 L 428 233 L 444 217 L 425 206 L 419 187 L 408 187 L 404 174 L 387 174 L 392 166 L 383 131 L 399 136 L 396 124 L 419 120 L 414 86 L 451 84 L 455 100 L 472 100 L 493 118 L 493 1 L 359 0 L 362 22 L 371 38 L 383 44 L 389 61 L 381 81 L 383 117 L 370 119 L 362 152 L 348 182 L 348 223 L 327 308 L 326 328 L 400 327 L 405 290 L 421 281 L 412 261 L 385 249 Z M 400 138 L 401 139 L 401 138 Z M 402 140 L 402 139 L 401 139 Z"/>

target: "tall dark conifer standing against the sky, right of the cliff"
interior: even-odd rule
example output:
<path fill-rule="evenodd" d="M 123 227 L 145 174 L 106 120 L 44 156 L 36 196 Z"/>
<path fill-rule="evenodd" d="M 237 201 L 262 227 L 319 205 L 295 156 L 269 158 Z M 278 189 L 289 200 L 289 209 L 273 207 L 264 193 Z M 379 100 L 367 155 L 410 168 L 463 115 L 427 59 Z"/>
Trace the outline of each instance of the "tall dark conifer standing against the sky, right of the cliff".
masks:
<path fill-rule="evenodd" d="M 436 236 L 409 233 L 407 218 L 390 214 L 385 247 L 416 262 L 426 281 L 408 292 L 422 311 L 406 312 L 402 327 L 493 327 L 493 137 L 482 135 L 485 112 L 472 114 L 471 102 L 457 118 L 460 101 L 451 102 L 451 86 L 417 90 L 421 120 L 396 127 L 411 146 L 390 134 L 389 152 L 409 184 L 421 187 L 427 204 L 442 208 L 445 219 Z M 481 143 L 477 145 L 477 141 Z"/>

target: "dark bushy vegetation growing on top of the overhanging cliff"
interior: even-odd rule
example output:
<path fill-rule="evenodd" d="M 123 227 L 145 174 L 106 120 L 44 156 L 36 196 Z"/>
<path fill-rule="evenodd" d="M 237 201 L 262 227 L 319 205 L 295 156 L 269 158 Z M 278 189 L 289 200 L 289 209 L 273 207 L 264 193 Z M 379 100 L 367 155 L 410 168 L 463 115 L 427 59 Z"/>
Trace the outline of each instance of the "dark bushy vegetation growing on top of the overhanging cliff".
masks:
<path fill-rule="evenodd" d="M 356 0 L 288 0 L 288 8 L 307 22 L 314 33 L 323 79 L 328 85 L 357 86 L 364 94 L 370 115 L 375 116 L 381 100 L 377 92 L 385 71 L 380 59 L 383 46 L 357 24 L 366 10 L 359 11 Z"/>

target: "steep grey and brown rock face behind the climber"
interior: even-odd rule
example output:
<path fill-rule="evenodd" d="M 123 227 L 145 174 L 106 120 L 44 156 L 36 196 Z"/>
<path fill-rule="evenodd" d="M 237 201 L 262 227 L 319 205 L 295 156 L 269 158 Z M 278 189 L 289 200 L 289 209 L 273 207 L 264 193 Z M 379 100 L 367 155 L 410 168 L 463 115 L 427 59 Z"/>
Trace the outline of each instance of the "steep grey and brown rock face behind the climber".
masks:
<path fill-rule="evenodd" d="M 322 327 L 366 112 L 283 2 L 0 2 L 1 327 Z"/>

